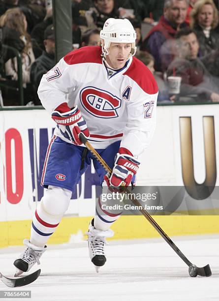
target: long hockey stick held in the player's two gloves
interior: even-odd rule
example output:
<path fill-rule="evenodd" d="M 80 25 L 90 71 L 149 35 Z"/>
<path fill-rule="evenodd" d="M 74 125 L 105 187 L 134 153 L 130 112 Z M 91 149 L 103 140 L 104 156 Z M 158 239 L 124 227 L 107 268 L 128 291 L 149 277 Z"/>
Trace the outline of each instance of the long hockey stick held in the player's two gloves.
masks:
<path fill-rule="evenodd" d="M 95 149 L 92 147 L 92 145 L 88 142 L 87 138 L 82 133 L 80 133 L 79 138 L 80 138 L 81 142 L 86 146 L 86 148 L 93 153 L 94 157 L 99 161 L 99 163 L 103 166 L 103 168 L 107 172 L 112 174 L 111 168 L 107 165 L 107 163 L 103 160 L 103 158 L 98 154 L 98 152 L 95 151 Z M 129 193 L 127 188 L 125 188 L 125 192 Z M 130 194 L 129 194 L 129 196 L 130 196 Z M 180 249 L 176 246 L 176 244 L 168 237 L 168 235 L 160 228 L 160 226 L 156 223 L 154 218 L 146 210 L 144 210 L 142 208 L 141 204 L 137 200 L 135 200 L 132 197 L 132 194 L 131 194 L 130 199 L 134 205 L 138 206 L 139 211 L 147 218 L 147 220 L 156 229 L 156 231 L 162 236 L 162 238 L 171 246 L 171 248 L 188 265 L 188 273 L 191 277 L 196 277 L 197 275 L 206 276 L 206 277 L 211 276 L 212 271 L 211 271 L 209 265 L 202 267 L 202 268 L 198 268 L 195 265 L 193 265 L 188 260 L 188 258 L 180 251 Z"/>

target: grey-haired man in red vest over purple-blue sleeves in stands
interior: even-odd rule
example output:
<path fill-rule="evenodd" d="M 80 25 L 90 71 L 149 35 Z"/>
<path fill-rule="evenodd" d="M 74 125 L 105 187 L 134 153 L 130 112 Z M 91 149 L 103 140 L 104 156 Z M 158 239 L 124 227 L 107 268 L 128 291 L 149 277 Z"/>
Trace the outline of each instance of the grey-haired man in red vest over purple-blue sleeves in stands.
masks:
<path fill-rule="evenodd" d="M 187 26 L 187 9 L 187 0 L 165 0 L 163 15 L 143 41 L 141 50 L 153 55 L 156 71 L 165 71 L 174 58 L 175 34 Z"/>

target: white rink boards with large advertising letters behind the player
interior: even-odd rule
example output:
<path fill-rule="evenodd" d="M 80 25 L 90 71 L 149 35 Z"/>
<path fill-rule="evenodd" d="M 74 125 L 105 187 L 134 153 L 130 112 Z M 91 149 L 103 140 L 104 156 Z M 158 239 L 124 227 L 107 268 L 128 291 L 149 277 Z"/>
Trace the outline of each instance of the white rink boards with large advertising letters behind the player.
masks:
<path fill-rule="evenodd" d="M 138 185 L 168 186 L 184 184 L 181 168 L 180 117 L 191 117 L 194 176 L 197 182 L 202 183 L 204 181 L 203 116 L 214 116 L 217 154 L 219 150 L 219 105 L 157 107 L 156 132 L 151 146 L 140 156 L 141 167 L 137 175 Z M 35 129 L 36 133 L 39 181 L 40 164 L 42 165 L 44 159 L 42 157 L 43 148 L 40 143 L 43 140 L 43 147 L 45 148 L 45 141 L 49 141 L 54 127 L 55 122 L 45 110 L 0 111 L 0 221 L 31 219 L 36 207 L 34 200 L 34 169 L 31 167 L 33 157 L 31 131 Z M 8 137 L 11 137 L 10 147 L 8 147 Z M 18 144 L 17 149 L 15 148 L 16 143 Z M 6 144 L 7 149 L 5 150 Z M 8 153 L 10 154 L 10 160 L 7 161 L 9 165 L 6 164 Z M 218 168 L 219 158 L 218 156 L 216 158 Z M 18 165 L 16 165 L 16 160 Z M 23 163 L 20 169 L 19 164 L 21 162 Z M 94 173 L 93 167 L 91 173 Z M 20 174 L 24 177 L 23 185 L 21 185 L 21 177 L 18 177 Z M 94 214 L 94 185 L 89 187 L 90 197 L 86 197 L 85 191 L 88 187 L 86 186 L 87 182 L 86 185 L 85 182 L 84 176 L 82 177 L 80 196 L 71 201 L 66 214 L 74 214 L 75 216 L 91 216 Z M 217 179 L 216 185 L 218 184 L 219 180 Z M 38 185 L 37 191 L 40 189 L 43 193 L 42 188 Z M 14 201 L 18 202 L 14 204 Z"/>

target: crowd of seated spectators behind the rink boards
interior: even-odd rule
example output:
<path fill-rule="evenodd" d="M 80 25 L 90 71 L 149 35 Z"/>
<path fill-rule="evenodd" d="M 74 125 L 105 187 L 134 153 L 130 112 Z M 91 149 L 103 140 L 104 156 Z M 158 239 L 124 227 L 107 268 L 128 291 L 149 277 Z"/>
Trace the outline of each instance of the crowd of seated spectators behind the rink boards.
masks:
<path fill-rule="evenodd" d="M 100 45 L 99 31 L 106 19 L 127 18 L 137 33 L 136 57 L 156 78 L 158 102 L 219 102 L 218 9 L 219 0 L 72 0 L 72 50 Z M 4 104 L 20 101 L 16 49 L 24 104 L 39 105 L 39 82 L 55 65 L 52 1 L 0 0 L 2 45 Z M 181 77 L 180 97 L 169 93 L 169 76 Z"/>

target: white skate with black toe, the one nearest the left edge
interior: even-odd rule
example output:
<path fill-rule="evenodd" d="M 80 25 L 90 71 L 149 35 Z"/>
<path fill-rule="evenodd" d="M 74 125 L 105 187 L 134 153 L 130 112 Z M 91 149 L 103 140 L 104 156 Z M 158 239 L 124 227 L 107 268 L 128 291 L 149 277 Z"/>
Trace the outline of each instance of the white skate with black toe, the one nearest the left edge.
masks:
<path fill-rule="evenodd" d="M 31 244 L 29 240 L 24 240 L 24 244 L 27 248 L 14 262 L 14 266 L 17 268 L 14 275 L 15 277 L 21 275 L 23 272 L 29 271 L 35 263 L 39 265 L 39 259 L 46 250 L 46 245 L 44 247 L 38 247 Z"/>

